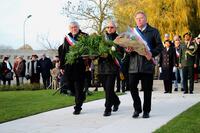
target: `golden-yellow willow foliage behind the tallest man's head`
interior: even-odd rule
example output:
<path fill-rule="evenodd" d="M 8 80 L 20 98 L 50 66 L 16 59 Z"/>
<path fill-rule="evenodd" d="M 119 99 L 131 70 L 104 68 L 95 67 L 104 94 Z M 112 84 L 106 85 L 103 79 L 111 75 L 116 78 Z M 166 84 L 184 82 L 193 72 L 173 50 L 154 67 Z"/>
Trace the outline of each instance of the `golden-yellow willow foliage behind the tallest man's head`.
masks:
<path fill-rule="evenodd" d="M 114 15 L 120 31 L 125 31 L 127 25 L 135 26 L 134 14 L 138 10 L 147 14 L 148 23 L 158 28 L 162 36 L 188 31 L 194 37 L 199 34 L 200 0 L 117 0 Z"/>

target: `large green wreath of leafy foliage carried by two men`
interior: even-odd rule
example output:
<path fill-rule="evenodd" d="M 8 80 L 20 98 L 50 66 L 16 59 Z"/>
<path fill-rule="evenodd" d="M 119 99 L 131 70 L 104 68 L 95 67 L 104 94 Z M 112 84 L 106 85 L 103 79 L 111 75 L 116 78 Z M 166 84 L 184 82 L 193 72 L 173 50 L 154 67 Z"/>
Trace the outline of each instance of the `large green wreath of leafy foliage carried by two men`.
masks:
<path fill-rule="evenodd" d="M 73 64 L 80 57 L 94 58 L 103 54 L 110 54 L 116 58 L 119 56 L 116 47 L 113 41 L 106 40 L 102 35 L 81 36 L 66 54 L 66 64 Z"/>

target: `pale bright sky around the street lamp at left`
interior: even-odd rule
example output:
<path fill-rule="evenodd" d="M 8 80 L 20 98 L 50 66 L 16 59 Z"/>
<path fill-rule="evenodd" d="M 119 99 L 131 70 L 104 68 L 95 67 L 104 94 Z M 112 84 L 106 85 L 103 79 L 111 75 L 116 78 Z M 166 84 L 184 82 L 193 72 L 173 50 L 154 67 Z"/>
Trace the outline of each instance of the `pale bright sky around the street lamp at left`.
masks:
<path fill-rule="evenodd" d="M 64 0 L 0 0 L 0 45 L 16 49 L 23 45 L 23 23 L 26 21 L 26 44 L 43 49 L 38 35 L 49 35 L 51 41 L 62 43 L 70 19 L 61 15 Z"/>

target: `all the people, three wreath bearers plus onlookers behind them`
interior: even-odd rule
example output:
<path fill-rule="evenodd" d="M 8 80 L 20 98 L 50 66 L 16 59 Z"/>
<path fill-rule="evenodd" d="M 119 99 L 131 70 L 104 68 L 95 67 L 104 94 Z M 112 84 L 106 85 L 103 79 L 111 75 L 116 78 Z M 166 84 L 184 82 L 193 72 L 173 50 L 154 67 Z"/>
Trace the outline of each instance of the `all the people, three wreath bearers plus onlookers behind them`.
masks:
<path fill-rule="evenodd" d="M 39 84 L 42 77 L 44 88 L 60 87 L 61 93 L 70 93 L 75 97 L 74 115 L 81 113 L 86 93 L 91 85 L 96 87 L 95 90 L 99 85 L 104 89 L 103 116 L 110 116 L 112 111 L 118 111 L 121 102 L 116 92 L 120 92 L 121 89 L 122 92 L 130 90 L 134 108 L 132 117 L 137 118 L 143 112 L 143 118 L 149 118 L 156 65 L 159 68 L 159 79 L 164 83 L 164 93 L 172 93 L 173 83 L 174 91 L 178 91 L 179 82 L 180 90 L 184 91 L 184 94 L 193 93 L 194 81 L 198 82 L 200 35 L 192 38 L 191 33 L 187 32 L 183 39 L 180 35 L 175 35 L 173 40 L 170 40 L 169 34 L 165 34 L 162 42 L 159 31 L 147 23 L 144 12 L 139 11 L 135 14 L 135 22 L 135 28 L 147 41 L 150 50 L 142 56 L 131 47 L 118 46 L 117 51 L 122 55 L 120 67 L 110 54 L 103 54 L 94 60 L 79 57 L 75 63 L 66 64 L 65 56 L 73 46 L 68 36 L 75 41 L 79 41 L 80 36 L 88 36 L 81 31 L 78 22 L 73 21 L 69 24 L 70 32 L 64 38 L 64 43 L 59 46 L 58 57 L 55 60 L 51 61 L 45 54 L 39 60 L 37 55 L 32 55 L 31 60 L 26 63 L 22 57 L 17 57 L 12 67 L 9 58 L 4 57 L 0 69 L 1 80 L 4 85 L 6 82 L 10 85 L 13 79 L 12 72 L 15 73 L 17 85 L 23 84 L 24 78 L 30 79 L 31 84 Z M 113 41 L 117 36 L 116 23 L 108 22 L 105 27 L 105 38 Z M 158 58 L 157 64 L 153 61 L 155 57 Z M 143 105 L 139 96 L 139 81 L 144 92 Z"/>

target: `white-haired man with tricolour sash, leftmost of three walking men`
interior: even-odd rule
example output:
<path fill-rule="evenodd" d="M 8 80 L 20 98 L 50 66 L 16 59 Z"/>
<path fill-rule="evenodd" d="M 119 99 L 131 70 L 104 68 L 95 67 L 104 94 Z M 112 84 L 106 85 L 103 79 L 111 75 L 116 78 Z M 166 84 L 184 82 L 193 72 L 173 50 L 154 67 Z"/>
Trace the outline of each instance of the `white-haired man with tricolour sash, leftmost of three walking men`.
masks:
<path fill-rule="evenodd" d="M 79 57 L 76 63 L 66 64 L 65 55 L 69 52 L 69 48 L 73 46 L 68 40 L 78 41 L 80 36 L 87 36 L 86 33 L 80 30 L 79 24 L 72 21 L 69 24 L 69 33 L 64 38 L 64 43 L 58 48 L 58 56 L 60 59 L 61 73 L 64 75 L 64 86 L 70 89 L 75 94 L 74 115 L 79 115 L 82 110 L 83 102 L 86 98 L 84 91 L 85 80 L 85 64 L 83 58 Z"/>

